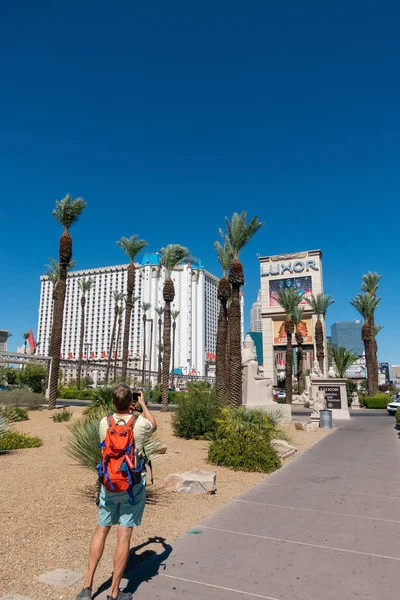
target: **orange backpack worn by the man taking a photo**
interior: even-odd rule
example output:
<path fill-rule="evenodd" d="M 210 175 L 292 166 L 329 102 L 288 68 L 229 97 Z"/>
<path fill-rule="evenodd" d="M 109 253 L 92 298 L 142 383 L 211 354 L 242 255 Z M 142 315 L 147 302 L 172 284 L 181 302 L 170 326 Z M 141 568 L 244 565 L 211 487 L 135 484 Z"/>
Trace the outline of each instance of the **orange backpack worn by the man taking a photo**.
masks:
<path fill-rule="evenodd" d="M 110 492 L 128 492 L 133 499 L 132 487 L 141 481 L 144 462 L 135 468 L 134 427 L 138 417 L 128 424 L 123 419 L 115 421 L 107 416 L 108 429 L 104 442 L 99 444 L 102 455 L 97 467 L 99 478 Z"/>

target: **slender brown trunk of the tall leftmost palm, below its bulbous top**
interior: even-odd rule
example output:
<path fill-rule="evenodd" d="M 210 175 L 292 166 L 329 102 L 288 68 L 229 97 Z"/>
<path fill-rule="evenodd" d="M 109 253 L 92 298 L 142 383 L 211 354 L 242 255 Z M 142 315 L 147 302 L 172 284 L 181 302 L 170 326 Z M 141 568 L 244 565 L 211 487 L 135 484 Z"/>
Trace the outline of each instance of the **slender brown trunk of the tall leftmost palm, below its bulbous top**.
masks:
<path fill-rule="evenodd" d="M 67 269 L 60 265 L 60 280 L 57 283 L 57 301 L 54 311 L 56 320 L 54 321 L 52 333 L 52 358 L 50 372 L 50 390 L 49 390 L 49 410 L 56 407 L 57 390 L 58 390 L 58 374 L 60 371 L 60 354 L 63 333 L 63 317 L 65 295 L 67 291 Z"/>

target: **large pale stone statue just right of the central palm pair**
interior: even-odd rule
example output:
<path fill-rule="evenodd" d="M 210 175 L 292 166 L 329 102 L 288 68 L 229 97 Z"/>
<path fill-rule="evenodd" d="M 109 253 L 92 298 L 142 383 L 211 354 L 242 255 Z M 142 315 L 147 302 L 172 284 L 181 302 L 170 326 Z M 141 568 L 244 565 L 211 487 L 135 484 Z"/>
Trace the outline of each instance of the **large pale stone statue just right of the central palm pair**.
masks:
<path fill-rule="evenodd" d="M 260 374 L 257 361 L 257 352 L 250 335 L 246 336 L 242 349 L 243 368 L 243 404 L 261 406 L 274 404 L 273 381 Z"/>

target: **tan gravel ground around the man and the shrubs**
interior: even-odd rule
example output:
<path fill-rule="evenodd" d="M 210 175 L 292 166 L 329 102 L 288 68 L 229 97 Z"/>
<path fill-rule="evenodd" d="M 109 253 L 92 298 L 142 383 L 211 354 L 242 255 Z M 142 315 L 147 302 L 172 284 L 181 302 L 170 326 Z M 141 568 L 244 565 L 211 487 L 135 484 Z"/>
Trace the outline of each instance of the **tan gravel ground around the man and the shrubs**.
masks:
<path fill-rule="evenodd" d="M 82 407 L 72 407 L 74 416 Z M 160 536 L 172 543 L 203 518 L 258 483 L 261 473 L 235 472 L 207 463 L 208 442 L 182 440 L 172 434 L 170 414 L 156 415 L 158 435 L 167 453 L 153 463 L 153 486 L 148 487 L 148 504 L 141 527 L 134 531 L 132 546 Z M 38 583 L 45 571 L 66 568 L 84 572 L 91 536 L 97 519 L 93 491 L 95 474 L 77 466 L 64 452 L 68 436 L 66 423 L 53 423 L 49 413 L 31 412 L 30 420 L 16 429 L 38 435 L 43 446 L 0 455 L 2 493 L 0 497 L 0 596 L 5 593 L 45 598 L 70 599 L 80 584 L 54 588 Z M 289 428 L 291 442 L 298 452 L 328 435 Z M 217 493 L 213 496 L 189 496 L 163 491 L 168 473 L 189 469 L 212 469 L 217 473 Z M 115 528 L 114 528 L 115 529 Z M 106 545 L 96 575 L 96 584 L 106 581 L 112 571 L 115 530 Z M 159 551 L 157 543 L 146 544 L 132 553 L 132 563 Z"/>

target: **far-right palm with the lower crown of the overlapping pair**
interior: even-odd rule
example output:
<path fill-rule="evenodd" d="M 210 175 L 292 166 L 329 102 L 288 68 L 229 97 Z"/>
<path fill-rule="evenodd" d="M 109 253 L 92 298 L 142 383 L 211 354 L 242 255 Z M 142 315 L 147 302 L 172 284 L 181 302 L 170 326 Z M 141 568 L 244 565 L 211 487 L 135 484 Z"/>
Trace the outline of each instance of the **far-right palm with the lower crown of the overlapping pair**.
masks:
<path fill-rule="evenodd" d="M 380 298 L 373 298 L 373 296 L 370 294 L 357 294 L 355 298 L 350 300 L 350 304 L 354 306 L 354 308 L 364 318 L 364 324 L 361 329 L 361 337 L 365 348 L 369 396 L 374 396 L 377 392 L 377 388 L 375 387 L 376 377 L 374 373 L 376 355 L 375 326 L 374 331 L 372 331 L 373 328 L 371 326 L 371 318 L 373 319 L 373 315 L 379 306 L 379 302 Z M 372 342 L 374 342 L 373 345 Z"/>

